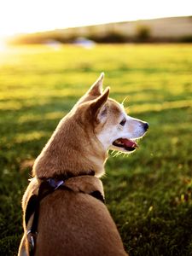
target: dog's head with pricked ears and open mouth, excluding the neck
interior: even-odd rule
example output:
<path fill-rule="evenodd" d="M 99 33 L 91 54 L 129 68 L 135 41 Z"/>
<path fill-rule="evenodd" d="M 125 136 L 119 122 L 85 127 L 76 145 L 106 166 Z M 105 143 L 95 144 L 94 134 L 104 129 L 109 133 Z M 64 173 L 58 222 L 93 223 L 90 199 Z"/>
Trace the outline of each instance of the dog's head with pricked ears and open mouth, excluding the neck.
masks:
<path fill-rule="evenodd" d="M 77 106 L 86 108 L 84 120 L 92 125 L 105 150 L 131 153 L 138 147 L 137 139 L 148 130 L 148 123 L 127 115 L 122 104 L 108 97 L 109 87 L 102 91 L 103 76 L 102 73 Z"/>

